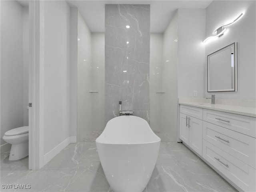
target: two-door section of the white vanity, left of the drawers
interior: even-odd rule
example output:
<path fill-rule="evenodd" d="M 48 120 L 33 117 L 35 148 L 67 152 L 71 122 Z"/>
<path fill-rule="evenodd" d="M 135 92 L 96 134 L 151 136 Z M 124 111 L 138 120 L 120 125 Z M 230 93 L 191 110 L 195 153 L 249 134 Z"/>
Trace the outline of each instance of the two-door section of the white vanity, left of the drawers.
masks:
<path fill-rule="evenodd" d="M 180 139 L 202 156 L 202 108 L 180 106 Z"/>

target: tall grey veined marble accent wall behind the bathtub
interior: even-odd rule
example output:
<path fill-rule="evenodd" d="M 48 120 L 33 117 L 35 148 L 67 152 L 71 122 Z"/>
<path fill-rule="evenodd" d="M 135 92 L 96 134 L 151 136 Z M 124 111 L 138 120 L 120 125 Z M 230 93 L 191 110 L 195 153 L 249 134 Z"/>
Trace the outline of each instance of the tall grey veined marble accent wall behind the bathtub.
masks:
<path fill-rule="evenodd" d="M 150 5 L 106 4 L 105 124 L 119 116 L 119 101 L 150 121 L 149 59 Z"/>

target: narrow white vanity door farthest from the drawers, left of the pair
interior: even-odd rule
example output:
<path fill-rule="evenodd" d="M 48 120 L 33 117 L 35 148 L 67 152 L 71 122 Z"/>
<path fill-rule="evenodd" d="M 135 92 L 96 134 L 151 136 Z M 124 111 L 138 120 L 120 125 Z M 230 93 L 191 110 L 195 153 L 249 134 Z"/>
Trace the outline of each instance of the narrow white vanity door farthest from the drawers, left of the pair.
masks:
<path fill-rule="evenodd" d="M 189 145 L 188 115 L 180 113 L 180 139 Z"/>

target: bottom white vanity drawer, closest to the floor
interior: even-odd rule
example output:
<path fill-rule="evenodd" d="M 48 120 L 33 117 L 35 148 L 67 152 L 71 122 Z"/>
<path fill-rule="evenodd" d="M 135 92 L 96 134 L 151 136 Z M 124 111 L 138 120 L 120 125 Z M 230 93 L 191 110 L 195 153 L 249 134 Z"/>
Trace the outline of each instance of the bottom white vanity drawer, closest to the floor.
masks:
<path fill-rule="evenodd" d="M 255 191 L 256 170 L 203 140 L 203 158 L 243 191 Z"/>

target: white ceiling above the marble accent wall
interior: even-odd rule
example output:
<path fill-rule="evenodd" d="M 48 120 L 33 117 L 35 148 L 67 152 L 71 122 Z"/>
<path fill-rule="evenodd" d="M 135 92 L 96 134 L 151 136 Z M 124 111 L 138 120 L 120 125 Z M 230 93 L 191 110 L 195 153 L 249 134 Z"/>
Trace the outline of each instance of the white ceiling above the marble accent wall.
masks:
<path fill-rule="evenodd" d="M 28 0 L 18 0 L 23 6 Z M 178 8 L 206 8 L 212 0 L 67 0 L 93 33 L 105 30 L 105 4 L 150 4 L 150 32 L 163 33 Z"/>

